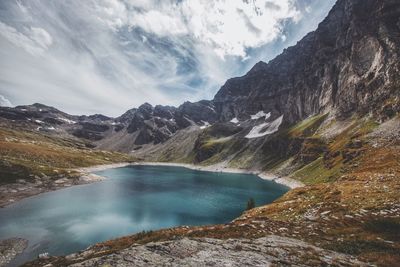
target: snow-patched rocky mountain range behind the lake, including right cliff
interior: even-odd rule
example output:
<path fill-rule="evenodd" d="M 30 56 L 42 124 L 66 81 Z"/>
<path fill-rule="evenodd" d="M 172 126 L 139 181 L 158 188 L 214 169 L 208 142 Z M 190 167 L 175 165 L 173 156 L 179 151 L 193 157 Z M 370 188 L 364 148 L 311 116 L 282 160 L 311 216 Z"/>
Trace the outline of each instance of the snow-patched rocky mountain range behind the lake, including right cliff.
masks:
<path fill-rule="evenodd" d="M 228 80 L 210 101 L 145 103 L 117 118 L 73 116 L 34 104 L 0 108 L 0 118 L 143 160 L 275 168 L 286 175 L 278 163 L 294 158 L 289 165 L 296 170 L 329 153 L 327 140 L 311 138 L 318 129 L 328 135 L 330 129 L 321 127 L 356 117 L 360 125 L 396 117 L 399 13 L 395 0 L 339 0 L 314 32 L 269 63 Z"/>

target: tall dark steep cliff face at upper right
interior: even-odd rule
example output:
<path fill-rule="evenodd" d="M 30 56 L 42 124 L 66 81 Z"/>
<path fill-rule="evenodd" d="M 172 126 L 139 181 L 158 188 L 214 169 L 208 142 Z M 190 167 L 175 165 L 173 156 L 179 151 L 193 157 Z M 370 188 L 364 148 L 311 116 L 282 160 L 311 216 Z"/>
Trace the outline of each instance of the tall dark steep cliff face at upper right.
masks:
<path fill-rule="evenodd" d="M 214 98 L 219 118 L 264 110 L 289 123 L 320 112 L 385 119 L 399 111 L 399 33 L 399 1 L 339 0 L 296 46 L 228 80 Z"/>

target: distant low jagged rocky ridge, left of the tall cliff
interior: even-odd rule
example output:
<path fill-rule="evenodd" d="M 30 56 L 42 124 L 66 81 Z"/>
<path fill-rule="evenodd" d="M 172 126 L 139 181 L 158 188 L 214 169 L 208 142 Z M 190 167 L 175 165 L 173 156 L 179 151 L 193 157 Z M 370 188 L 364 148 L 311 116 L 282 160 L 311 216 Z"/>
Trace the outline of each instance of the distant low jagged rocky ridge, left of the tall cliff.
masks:
<path fill-rule="evenodd" d="M 155 106 L 145 103 L 131 109 L 118 118 L 101 114 L 73 116 L 42 104 L 0 107 L 0 118 L 24 121 L 31 130 L 47 134 L 72 135 L 95 142 L 103 149 L 121 142 L 117 148 L 130 152 L 131 148 L 144 144 L 159 144 L 171 138 L 178 130 L 189 126 L 214 123 L 218 116 L 211 101 L 186 102 L 180 107 Z M 133 146 L 133 147 L 132 147 Z"/>

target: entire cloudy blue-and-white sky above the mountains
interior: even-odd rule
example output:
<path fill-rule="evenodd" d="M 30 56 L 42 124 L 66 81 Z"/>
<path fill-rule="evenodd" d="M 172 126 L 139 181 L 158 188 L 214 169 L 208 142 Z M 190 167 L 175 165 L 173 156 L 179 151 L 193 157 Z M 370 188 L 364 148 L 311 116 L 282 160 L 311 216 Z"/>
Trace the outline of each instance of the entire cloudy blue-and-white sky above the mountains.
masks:
<path fill-rule="evenodd" d="M 0 106 L 118 116 L 212 99 L 335 0 L 1 0 Z"/>

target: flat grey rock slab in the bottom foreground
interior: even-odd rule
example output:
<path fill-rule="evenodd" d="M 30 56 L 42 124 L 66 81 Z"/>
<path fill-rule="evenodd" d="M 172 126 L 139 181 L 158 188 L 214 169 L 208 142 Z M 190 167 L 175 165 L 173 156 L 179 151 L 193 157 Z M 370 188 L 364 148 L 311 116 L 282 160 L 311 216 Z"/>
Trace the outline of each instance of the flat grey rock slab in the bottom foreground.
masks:
<path fill-rule="evenodd" d="M 132 246 L 71 266 L 368 266 L 349 255 L 300 240 L 188 239 Z"/>

